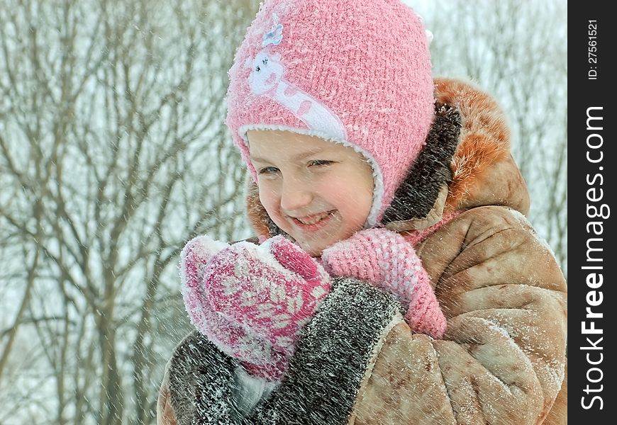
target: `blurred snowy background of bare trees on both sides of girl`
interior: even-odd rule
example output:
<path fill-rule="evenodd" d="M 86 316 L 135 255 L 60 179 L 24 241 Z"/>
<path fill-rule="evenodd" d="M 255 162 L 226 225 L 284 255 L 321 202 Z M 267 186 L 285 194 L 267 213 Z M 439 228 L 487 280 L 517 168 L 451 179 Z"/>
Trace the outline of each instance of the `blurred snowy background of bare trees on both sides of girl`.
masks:
<path fill-rule="evenodd" d="M 566 271 L 566 2 L 407 1 L 511 120 Z M 179 250 L 250 236 L 223 125 L 253 0 L 0 0 L 0 424 L 154 424 Z"/>

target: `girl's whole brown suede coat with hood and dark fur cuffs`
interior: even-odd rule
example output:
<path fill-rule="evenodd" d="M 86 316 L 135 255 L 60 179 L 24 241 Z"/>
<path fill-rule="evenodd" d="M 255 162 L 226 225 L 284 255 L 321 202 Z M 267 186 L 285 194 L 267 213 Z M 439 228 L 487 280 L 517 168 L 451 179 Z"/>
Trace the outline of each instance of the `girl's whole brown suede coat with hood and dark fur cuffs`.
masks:
<path fill-rule="evenodd" d="M 237 361 L 189 334 L 167 363 L 159 424 L 567 423 L 567 286 L 526 220 L 504 114 L 461 81 L 436 79 L 435 98 L 384 223 L 415 244 L 448 319 L 443 339 L 413 334 L 391 295 L 340 279 L 281 385 L 242 421 Z M 248 214 L 258 234 L 279 231 L 255 186 Z"/>

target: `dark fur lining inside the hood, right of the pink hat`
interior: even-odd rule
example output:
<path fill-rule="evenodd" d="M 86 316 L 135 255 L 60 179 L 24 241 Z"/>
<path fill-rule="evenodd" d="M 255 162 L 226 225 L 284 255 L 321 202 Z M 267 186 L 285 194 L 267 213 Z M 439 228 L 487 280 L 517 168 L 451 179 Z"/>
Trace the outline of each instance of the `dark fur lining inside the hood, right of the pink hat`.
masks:
<path fill-rule="evenodd" d="M 416 228 L 410 226 L 411 220 L 421 221 L 422 227 L 440 220 L 448 183 L 452 180 L 450 163 L 458 146 L 460 128 L 460 114 L 453 106 L 435 105 L 435 118 L 426 145 L 396 189 L 394 199 L 384 212 L 383 225 L 391 229 L 411 229 Z"/>

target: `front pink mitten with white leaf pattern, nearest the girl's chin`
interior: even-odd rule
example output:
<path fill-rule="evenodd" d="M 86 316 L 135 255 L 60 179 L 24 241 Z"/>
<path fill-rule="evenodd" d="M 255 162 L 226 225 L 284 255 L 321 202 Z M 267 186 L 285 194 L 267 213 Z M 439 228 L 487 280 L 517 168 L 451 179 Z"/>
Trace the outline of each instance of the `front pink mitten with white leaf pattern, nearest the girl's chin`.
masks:
<path fill-rule="evenodd" d="M 329 291 L 323 267 L 282 236 L 261 245 L 229 246 L 204 271 L 204 293 L 213 310 L 262 336 L 284 360 Z"/>

